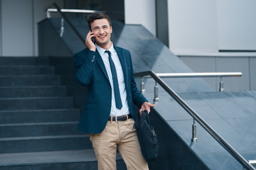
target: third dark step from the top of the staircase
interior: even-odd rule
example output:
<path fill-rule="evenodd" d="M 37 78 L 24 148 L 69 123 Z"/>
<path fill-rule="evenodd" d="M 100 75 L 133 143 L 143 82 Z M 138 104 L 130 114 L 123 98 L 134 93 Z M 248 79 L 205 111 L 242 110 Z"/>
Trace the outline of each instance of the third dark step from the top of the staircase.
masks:
<path fill-rule="evenodd" d="M 0 86 L 58 86 L 56 75 L 0 76 Z"/>

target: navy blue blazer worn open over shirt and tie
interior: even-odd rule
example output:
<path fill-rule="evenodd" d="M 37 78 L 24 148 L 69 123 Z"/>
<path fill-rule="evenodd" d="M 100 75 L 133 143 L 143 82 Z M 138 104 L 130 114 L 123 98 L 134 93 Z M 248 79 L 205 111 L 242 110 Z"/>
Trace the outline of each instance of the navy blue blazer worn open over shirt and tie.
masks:
<path fill-rule="evenodd" d="M 114 46 L 122 64 L 124 83 L 127 91 L 129 112 L 136 118 L 134 104 L 141 108 L 146 98 L 139 93 L 134 80 L 132 58 L 128 50 Z M 75 79 L 88 90 L 87 100 L 82 109 L 78 130 L 100 133 L 105 129 L 110 116 L 112 89 L 105 64 L 99 52 L 87 48 L 74 55 Z"/>

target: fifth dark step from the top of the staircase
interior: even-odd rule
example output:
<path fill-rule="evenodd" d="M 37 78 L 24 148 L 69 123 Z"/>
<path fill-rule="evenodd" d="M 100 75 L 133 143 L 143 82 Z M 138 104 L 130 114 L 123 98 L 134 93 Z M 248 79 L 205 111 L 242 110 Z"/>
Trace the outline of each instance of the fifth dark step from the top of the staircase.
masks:
<path fill-rule="evenodd" d="M 73 108 L 73 97 L 0 98 L 0 111 Z"/>

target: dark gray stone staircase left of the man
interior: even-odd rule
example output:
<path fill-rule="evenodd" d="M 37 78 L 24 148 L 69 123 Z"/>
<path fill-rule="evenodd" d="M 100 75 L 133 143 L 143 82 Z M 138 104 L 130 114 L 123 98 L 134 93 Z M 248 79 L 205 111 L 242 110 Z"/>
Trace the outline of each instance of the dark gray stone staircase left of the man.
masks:
<path fill-rule="evenodd" d="M 97 169 L 79 118 L 48 57 L 0 57 L 1 170 Z"/>

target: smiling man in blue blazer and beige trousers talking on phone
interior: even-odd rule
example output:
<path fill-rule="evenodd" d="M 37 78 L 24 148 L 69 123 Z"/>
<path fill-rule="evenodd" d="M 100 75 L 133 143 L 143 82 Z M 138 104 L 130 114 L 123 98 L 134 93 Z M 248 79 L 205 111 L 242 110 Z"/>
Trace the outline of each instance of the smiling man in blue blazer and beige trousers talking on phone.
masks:
<path fill-rule="evenodd" d="M 112 44 L 110 18 L 92 13 L 87 22 L 87 48 L 73 58 L 75 79 L 88 89 L 78 130 L 90 133 L 98 169 L 116 169 L 117 149 L 128 170 L 149 169 L 134 128 L 133 103 L 140 113 L 154 105 L 137 89 L 129 51 Z"/>

